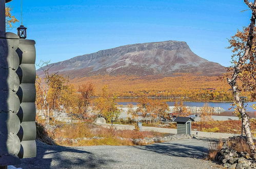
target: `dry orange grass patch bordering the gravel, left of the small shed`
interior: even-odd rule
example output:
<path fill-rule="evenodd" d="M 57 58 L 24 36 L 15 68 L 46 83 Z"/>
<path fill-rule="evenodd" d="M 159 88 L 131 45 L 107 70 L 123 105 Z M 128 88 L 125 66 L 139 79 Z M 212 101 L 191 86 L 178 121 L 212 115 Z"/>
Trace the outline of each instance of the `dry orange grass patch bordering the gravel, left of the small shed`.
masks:
<path fill-rule="evenodd" d="M 114 128 L 103 128 L 92 123 L 75 123 L 65 124 L 55 130 L 54 139 L 57 138 L 93 138 L 100 137 L 103 139 L 78 140 L 76 143 L 69 140 L 56 141 L 57 144 L 82 146 L 82 145 L 134 145 L 129 139 L 143 139 L 145 137 L 162 137 L 164 133 L 149 132 L 149 131 L 131 131 L 131 130 L 116 130 Z M 119 139 L 119 138 L 126 139 Z M 60 139 L 61 140 L 61 139 Z"/>

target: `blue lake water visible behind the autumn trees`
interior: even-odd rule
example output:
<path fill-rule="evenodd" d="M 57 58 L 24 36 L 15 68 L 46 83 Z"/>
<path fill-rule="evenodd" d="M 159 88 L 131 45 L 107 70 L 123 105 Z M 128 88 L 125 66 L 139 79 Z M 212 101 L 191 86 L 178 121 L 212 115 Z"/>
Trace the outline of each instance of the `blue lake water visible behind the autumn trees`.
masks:
<path fill-rule="evenodd" d="M 127 104 L 133 104 L 137 105 L 137 98 L 116 98 L 115 101 L 118 104 L 127 105 Z M 163 99 L 162 99 L 163 100 Z M 175 102 L 166 102 L 169 106 L 173 106 Z M 188 107 L 203 107 L 206 102 L 183 102 L 184 105 Z M 233 114 L 233 110 L 229 110 L 231 108 L 232 102 L 207 102 L 210 107 L 221 107 L 225 111 L 220 113 L 215 113 L 214 115 L 217 116 L 235 116 Z M 256 104 L 256 102 L 246 102 L 245 105 L 247 105 L 246 110 L 249 112 L 250 117 L 256 118 L 256 110 L 253 110 L 250 106 L 252 104 Z"/>

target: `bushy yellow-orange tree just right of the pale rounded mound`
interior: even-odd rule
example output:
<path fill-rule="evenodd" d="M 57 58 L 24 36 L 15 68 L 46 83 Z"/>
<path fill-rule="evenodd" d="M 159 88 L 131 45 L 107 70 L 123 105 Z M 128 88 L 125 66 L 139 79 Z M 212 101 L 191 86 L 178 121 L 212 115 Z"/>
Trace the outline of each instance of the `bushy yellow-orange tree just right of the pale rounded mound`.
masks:
<path fill-rule="evenodd" d="M 114 120 L 121 114 L 121 110 L 117 108 L 117 103 L 114 99 L 115 97 L 109 94 L 108 87 L 104 86 L 102 88 L 102 96 L 94 100 L 97 114 L 105 117 L 108 122 L 111 122 L 111 126 Z"/>

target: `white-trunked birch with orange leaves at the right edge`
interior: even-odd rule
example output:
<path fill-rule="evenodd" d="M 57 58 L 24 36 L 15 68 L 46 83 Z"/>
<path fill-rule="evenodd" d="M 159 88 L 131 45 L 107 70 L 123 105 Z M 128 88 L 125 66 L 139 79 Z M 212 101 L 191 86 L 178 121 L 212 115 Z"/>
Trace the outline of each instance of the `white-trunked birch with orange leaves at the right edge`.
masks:
<path fill-rule="evenodd" d="M 256 0 L 249 2 L 244 0 L 245 4 L 252 11 L 251 23 L 248 28 L 238 31 L 229 40 L 232 48 L 232 66 L 228 68 L 227 82 L 232 88 L 234 105 L 243 120 L 247 143 L 251 152 L 255 153 L 255 144 L 250 130 L 250 121 L 244 107 L 244 101 L 241 97 L 242 91 L 250 91 L 252 99 L 256 98 L 256 57 L 255 57 L 255 19 L 256 19 Z M 239 83 L 241 82 L 241 83 Z"/>

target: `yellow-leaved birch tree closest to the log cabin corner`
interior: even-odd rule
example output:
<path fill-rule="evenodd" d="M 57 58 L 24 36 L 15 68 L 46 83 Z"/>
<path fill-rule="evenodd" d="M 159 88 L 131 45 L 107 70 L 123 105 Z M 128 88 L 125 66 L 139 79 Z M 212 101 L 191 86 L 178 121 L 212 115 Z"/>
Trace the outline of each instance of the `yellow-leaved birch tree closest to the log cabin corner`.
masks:
<path fill-rule="evenodd" d="M 50 122 L 51 117 L 57 118 L 58 114 L 65 110 L 73 108 L 74 111 L 76 100 L 74 97 L 74 88 L 68 85 L 68 78 L 58 75 L 57 72 L 50 74 L 49 61 L 41 61 L 37 65 L 43 70 L 43 77 L 36 79 L 36 108 L 40 110 L 46 119 Z"/>

